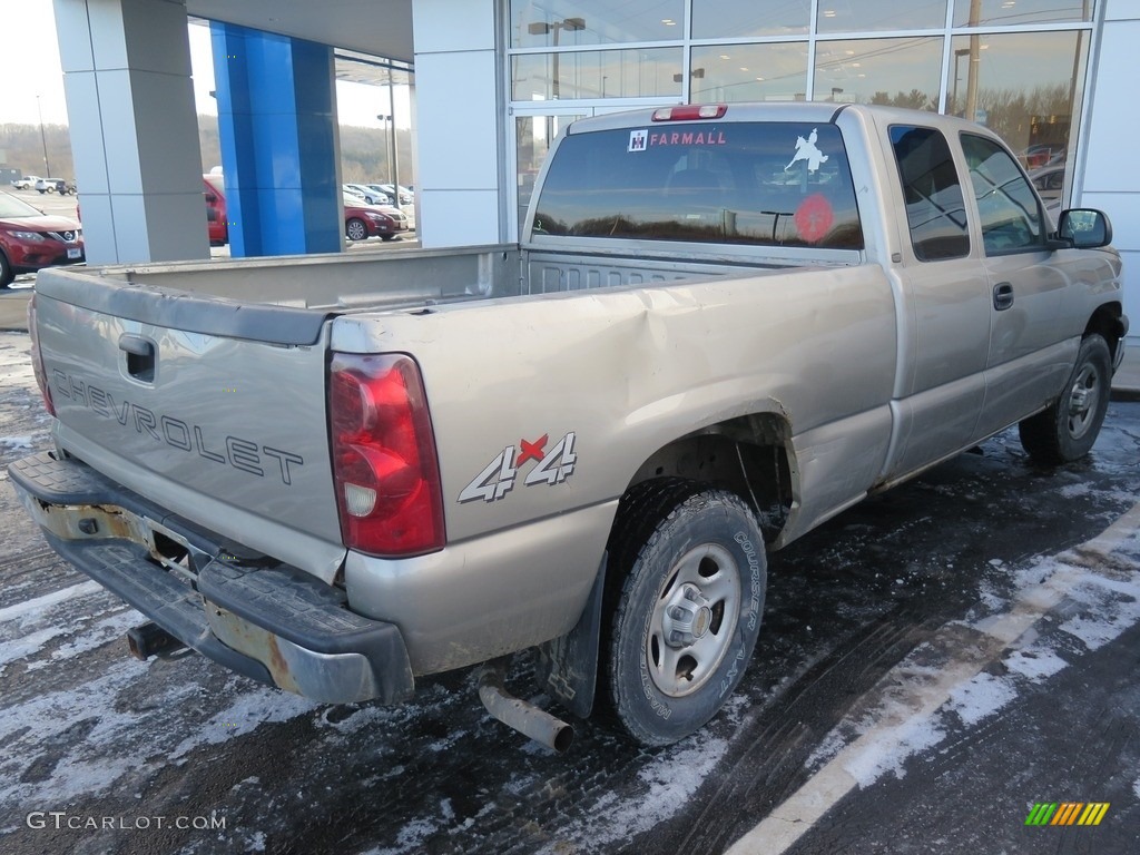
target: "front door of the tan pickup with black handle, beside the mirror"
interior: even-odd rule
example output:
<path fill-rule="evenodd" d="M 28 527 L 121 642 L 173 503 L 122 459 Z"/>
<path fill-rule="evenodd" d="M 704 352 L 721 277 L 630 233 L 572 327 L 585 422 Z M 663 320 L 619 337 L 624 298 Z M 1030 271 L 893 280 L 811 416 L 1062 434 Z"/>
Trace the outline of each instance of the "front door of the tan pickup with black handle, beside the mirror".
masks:
<path fill-rule="evenodd" d="M 1073 367 L 1076 328 L 1066 310 L 1072 253 L 1047 246 L 1048 221 L 1037 195 L 995 140 L 962 133 L 962 153 L 977 206 L 992 320 L 986 394 L 977 438 L 1040 409 Z"/>

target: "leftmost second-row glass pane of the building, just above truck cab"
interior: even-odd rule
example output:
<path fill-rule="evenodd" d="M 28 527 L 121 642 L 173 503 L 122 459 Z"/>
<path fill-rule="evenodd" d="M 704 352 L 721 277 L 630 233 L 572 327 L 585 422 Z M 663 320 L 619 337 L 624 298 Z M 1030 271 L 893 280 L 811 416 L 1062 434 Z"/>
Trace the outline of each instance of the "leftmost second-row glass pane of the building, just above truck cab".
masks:
<path fill-rule="evenodd" d="M 519 54 L 511 60 L 514 100 L 679 96 L 681 48 Z"/>

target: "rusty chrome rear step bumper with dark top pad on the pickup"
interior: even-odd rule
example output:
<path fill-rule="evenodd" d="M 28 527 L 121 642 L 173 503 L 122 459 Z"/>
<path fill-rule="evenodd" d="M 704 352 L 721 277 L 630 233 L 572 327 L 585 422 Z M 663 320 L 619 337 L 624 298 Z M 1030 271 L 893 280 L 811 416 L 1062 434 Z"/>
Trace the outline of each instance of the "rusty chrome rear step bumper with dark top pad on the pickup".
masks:
<path fill-rule="evenodd" d="M 317 701 L 399 703 L 415 682 L 400 630 L 340 588 L 148 503 L 75 459 L 8 467 L 52 548 L 186 646 Z"/>

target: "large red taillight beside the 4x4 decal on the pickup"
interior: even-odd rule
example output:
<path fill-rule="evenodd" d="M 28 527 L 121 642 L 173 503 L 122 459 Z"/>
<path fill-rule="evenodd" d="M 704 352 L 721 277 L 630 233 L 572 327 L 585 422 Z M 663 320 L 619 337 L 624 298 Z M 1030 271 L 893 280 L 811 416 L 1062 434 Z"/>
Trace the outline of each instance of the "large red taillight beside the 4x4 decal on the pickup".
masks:
<path fill-rule="evenodd" d="M 412 357 L 335 353 L 328 412 L 344 545 L 390 557 L 443 548 L 435 438 Z"/>

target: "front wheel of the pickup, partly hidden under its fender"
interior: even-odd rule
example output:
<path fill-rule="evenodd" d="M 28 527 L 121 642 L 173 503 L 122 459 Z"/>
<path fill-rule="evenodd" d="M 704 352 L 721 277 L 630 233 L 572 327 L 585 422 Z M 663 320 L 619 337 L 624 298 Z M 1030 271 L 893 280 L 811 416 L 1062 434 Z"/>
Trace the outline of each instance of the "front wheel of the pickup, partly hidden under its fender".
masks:
<path fill-rule="evenodd" d="M 1084 457 L 1105 422 L 1113 359 L 1099 335 L 1086 335 L 1060 398 L 1018 425 L 1021 446 L 1035 463 L 1056 466 Z"/>

